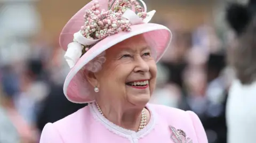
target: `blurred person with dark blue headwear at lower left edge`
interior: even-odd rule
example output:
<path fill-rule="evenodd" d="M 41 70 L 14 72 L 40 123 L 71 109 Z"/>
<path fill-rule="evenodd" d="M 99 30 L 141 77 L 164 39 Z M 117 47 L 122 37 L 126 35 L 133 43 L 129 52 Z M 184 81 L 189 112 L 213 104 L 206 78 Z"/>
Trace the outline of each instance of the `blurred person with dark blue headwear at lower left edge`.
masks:
<path fill-rule="evenodd" d="M 19 78 L 10 67 L 1 70 L 0 142 L 34 143 L 36 136 L 29 124 L 19 114 L 14 98 L 19 92 Z"/>

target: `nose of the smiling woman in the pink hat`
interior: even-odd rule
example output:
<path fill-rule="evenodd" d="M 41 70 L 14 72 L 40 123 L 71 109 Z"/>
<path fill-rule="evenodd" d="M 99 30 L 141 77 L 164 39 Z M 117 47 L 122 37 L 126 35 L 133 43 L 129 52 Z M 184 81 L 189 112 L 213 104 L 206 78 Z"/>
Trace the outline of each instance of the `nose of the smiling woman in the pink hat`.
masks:
<path fill-rule="evenodd" d="M 134 72 L 145 73 L 149 71 L 148 63 L 144 61 L 141 56 L 138 56 L 134 62 L 135 62 Z"/>

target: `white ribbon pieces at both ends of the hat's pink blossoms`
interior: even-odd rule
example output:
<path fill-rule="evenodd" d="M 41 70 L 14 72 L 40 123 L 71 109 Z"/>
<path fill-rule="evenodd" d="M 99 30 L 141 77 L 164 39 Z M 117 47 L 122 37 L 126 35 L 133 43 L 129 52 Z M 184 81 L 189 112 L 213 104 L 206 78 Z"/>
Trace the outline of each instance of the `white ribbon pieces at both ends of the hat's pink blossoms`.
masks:
<path fill-rule="evenodd" d="M 147 11 L 146 4 L 142 0 L 139 0 L 139 1 L 142 3 L 146 12 Z M 129 20 L 132 25 L 143 24 L 143 23 L 148 23 L 153 18 L 155 13 L 156 13 L 155 10 L 148 12 L 147 17 L 144 20 L 142 20 L 140 16 L 138 16 L 134 11 L 127 9 L 122 15 L 122 19 Z M 81 31 L 74 33 L 74 41 L 68 44 L 66 54 L 64 55 L 64 58 L 66 59 L 69 65 L 69 68 L 73 68 L 76 62 L 81 57 L 82 49 L 83 49 L 82 45 L 92 45 L 99 40 L 101 39 L 97 39 L 97 40 L 87 39 L 81 34 Z"/>

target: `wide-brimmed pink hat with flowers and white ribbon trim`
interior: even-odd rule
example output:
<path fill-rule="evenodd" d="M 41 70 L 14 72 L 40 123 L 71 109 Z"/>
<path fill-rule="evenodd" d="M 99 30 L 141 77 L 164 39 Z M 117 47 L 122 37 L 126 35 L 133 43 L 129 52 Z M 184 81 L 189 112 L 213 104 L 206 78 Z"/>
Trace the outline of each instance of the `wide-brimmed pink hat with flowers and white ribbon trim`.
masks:
<path fill-rule="evenodd" d="M 106 10 L 106 11 L 105 11 Z M 63 91 L 74 103 L 94 101 L 93 87 L 84 77 L 84 66 L 125 39 L 143 34 L 157 53 L 156 62 L 171 42 L 165 26 L 148 23 L 155 11 L 147 12 L 142 0 L 91 1 L 79 10 L 60 34 L 60 46 L 71 70 Z"/>

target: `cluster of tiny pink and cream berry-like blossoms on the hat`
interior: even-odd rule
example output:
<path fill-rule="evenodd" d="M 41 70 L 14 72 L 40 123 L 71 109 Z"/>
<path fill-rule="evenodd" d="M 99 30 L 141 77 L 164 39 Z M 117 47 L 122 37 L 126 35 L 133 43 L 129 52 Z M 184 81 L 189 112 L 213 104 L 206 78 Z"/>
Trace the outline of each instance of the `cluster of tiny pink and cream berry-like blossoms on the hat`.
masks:
<path fill-rule="evenodd" d="M 132 9 L 133 6 L 138 12 L 137 15 L 142 20 L 145 19 L 147 12 L 137 0 L 113 1 L 112 4 L 109 4 L 108 11 L 100 11 L 99 2 L 95 1 L 91 9 L 85 11 L 85 24 L 81 27 L 82 35 L 87 39 L 103 39 L 121 30 L 130 31 L 131 23 L 127 19 L 122 19 L 122 15 L 127 9 Z"/>

